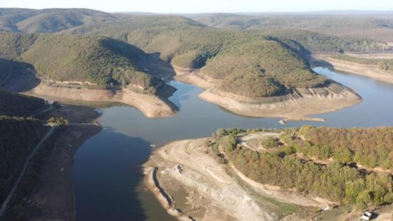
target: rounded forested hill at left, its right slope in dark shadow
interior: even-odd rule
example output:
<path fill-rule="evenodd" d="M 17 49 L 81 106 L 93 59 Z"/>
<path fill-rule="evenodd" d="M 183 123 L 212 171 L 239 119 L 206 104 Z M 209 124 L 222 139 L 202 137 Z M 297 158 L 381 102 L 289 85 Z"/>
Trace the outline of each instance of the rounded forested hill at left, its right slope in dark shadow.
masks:
<path fill-rule="evenodd" d="M 123 41 L 88 35 L 10 32 L 0 32 L 0 38 L 0 58 L 32 64 L 45 79 L 88 81 L 102 87 L 132 84 L 144 89 L 161 84 L 135 65 L 145 53 Z"/>

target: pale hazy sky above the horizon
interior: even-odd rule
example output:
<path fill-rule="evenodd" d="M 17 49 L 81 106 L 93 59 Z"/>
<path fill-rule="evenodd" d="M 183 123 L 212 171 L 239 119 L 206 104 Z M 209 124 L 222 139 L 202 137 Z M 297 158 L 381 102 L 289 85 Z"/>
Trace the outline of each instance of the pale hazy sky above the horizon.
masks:
<path fill-rule="evenodd" d="M 79 7 L 156 13 L 393 10 L 392 0 L 0 0 L 0 7 Z"/>

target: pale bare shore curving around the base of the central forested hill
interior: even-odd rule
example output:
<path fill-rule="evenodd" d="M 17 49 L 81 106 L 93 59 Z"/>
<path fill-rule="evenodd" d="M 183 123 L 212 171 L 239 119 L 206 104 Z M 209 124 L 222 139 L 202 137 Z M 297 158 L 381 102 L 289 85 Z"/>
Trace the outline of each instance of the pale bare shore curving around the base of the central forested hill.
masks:
<path fill-rule="evenodd" d="M 202 74 L 198 69 L 174 66 L 174 70 L 176 79 L 206 89 L 199 95 L 201 99 L 243 116 L 283 118 L 280 123 L 294 120 L 325 121 L 307 116 L 340 110 L 362 101 L 356 92 L 333 81 L 327 87 L 297 88 L 292 94 L 283 96 L 248 98 L 218 90 L 215 85 L 219 81 Z"/>

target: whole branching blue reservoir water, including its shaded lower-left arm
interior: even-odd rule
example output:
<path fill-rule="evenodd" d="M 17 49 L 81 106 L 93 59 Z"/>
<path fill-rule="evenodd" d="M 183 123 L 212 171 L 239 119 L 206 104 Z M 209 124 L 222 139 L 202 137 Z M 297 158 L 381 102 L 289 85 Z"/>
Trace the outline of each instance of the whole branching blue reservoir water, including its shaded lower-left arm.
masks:
<path fill-rule="evenodd" d="M 141 185 L 141 168 L 150 144 L 210 136 L 218 128 L 393 126 L 393 85 L 354 74 L 314 70 L 355 90 L 363 101 L 336 112 L 320 114 L 326 122 L 288 122 L 232 114 L 198 98 L 202 89 L 172 81 L 178 90 L 169 98 L 180 112 L 170 118 L 147 119 L 132 107 L 99 109 L 101 133 L 75 154 L 73 188 L 79 221 L 174 221 Z"/>

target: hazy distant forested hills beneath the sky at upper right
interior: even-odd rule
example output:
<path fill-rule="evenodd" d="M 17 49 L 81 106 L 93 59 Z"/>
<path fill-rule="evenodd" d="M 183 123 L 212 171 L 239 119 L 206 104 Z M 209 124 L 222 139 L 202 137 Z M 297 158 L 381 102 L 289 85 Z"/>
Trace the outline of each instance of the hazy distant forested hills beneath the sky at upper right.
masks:
<path fill-rule="evenodd" d="M 327 35 L 351 36 L 393 41 L 393 17 L 390 12 L 367 15 L 235 15 L 213 14 L 195 18 L 197 21 L 217 28 L 258 29 L 283 28 L 302 29 Z"/>

